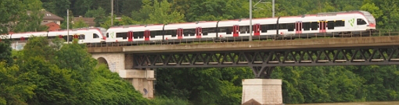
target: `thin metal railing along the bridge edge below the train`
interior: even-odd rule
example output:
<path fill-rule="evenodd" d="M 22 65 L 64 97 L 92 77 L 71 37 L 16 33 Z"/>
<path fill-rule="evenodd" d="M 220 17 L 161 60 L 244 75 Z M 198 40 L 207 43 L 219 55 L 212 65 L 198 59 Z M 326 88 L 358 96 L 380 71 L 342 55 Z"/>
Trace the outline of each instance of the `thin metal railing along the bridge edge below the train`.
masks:
<path fill-rule="evenodd" d="M 378 31 L 356 32 L 348 31 L 345 33 L 322 33 L 322 34 L 291 34 L 276 36 L 252 36 L 253 41 L 278 41 L 278 40 L 307 40 L 315 38 L 353 38 L 353 37 L 372 37 L 372 36 L 399 36 L 399 29 L 380 29 Z M 87 47 L 115 47 L 130 45 L 172 45 L 172 44 L 198 44 L 198 43 L 228 43 L 237 41 L 248 41 L 248 36 L 239 37 L 218 37 L 218 38 L 190 38 L 181 40 L 165 41 L 130 41 L 118 43 L 88 43 Z"/>

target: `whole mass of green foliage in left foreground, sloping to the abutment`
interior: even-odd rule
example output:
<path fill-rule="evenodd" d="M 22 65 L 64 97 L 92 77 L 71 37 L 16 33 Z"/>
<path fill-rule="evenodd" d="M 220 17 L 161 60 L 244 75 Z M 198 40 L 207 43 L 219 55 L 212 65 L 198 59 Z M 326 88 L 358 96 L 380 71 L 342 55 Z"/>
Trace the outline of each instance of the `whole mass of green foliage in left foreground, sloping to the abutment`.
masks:
<path fill-rule="evenodd" d="M 32 36 L 13 66 L 0 62 L 0 104 L 148 104 L 85 45 Z"/>

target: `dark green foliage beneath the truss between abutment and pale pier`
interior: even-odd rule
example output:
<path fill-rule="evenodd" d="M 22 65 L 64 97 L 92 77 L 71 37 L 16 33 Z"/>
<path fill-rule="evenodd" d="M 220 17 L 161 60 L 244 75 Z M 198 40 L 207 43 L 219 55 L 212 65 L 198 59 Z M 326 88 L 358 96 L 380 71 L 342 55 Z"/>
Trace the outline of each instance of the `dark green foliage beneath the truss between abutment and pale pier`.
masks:
<path fill-rule="evenodd" d="M 157 74 L 158 94 L 192 104 L 240 104 L 241 80 L 253 76 L 245 68 L 158 69 Z"/>

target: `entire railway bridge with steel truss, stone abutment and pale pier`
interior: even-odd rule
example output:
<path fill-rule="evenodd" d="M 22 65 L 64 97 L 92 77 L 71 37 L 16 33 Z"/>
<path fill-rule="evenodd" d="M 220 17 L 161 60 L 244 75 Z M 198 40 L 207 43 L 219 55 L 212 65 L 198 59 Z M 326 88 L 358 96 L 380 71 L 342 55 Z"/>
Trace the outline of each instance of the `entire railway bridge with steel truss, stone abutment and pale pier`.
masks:
<path fill-rule="evenodd" d="M 269 78 L 275 66 L 399 64 L 399 36 L 311 38 L 286 41 L 241 41 L 133 45 L 88 48 L 92 57 L 153 97 L 156 68 L 248 66 L 241 102 L 283 104 L 281 80 Z"/>

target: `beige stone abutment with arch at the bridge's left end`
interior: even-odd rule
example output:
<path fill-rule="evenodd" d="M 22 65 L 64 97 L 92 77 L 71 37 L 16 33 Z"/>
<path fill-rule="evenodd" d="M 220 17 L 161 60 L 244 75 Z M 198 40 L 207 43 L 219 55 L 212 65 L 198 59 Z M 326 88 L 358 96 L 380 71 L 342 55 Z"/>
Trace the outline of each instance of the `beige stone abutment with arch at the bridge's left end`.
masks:
<path fill-rule="evenodd" d="M 125 52 L 92 53 L 99 63 L 106 64 L 114 73 L 131 83 L 134 88 L 148 99 L 154 98 L 154 70 L 132 69 L 133 55 Z"/>

